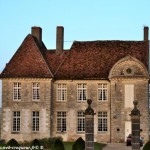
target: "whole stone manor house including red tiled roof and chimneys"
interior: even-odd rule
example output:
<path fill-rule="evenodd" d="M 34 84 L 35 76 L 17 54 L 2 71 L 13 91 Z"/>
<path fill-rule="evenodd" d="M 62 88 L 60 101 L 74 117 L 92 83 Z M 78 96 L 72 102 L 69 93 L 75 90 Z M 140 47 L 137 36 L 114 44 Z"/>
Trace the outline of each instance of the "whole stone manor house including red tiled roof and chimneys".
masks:
<path fill-rule="evenodd" d="M 131 133 L 129 114 L 136 99 L 141 112 L 141 136 L 147 141 L 148 41 L 75 41 L 70 50 L 65 51 L 63 27 L 58 28 L 62 38 L 57 42 L 59 51 L 46 49 L 42 29 L 34 27 L 33 35 L 25 38 L 0 75 L 2 139 L 31 141 L 56 136 L 64 141 L 84 139 L 85 118 L 79 112 L 84 112 L 86 100 L 92 99 L 96 113 L 94 141 L 124 142 Z M 17 101 L 13 99 L 14 83 L 21 84 L 21 99 Z M 39 84 L 37 101 L 33 100 L 33 83 Z M 17 123 L 13 112 L 16 111 L 20 112 L 20 128 L 14 132 L 13 124 Z M 39 112 L 38 131 L 33 130 L 35 111 Z"/>

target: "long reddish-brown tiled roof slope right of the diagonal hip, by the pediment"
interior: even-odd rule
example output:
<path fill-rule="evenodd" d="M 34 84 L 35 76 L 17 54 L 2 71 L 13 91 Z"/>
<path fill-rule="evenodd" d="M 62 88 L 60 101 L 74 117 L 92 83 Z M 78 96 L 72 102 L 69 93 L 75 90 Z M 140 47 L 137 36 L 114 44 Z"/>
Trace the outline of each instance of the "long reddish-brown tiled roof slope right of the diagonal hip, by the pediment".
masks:
<path fill-rule="evenodd" d="M 140 60 L 148 68 L 148 42 L 74 42 L 56 79 L 107 79 L 113 65 L 125 56 Z"/>

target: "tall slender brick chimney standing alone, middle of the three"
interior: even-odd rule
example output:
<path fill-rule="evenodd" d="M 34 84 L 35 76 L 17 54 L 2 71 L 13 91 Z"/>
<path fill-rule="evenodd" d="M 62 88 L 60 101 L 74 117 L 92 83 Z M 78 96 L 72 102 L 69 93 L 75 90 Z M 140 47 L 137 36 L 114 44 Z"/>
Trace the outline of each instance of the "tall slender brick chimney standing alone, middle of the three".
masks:
<path fill-rule="evenodd" d="M 60 55 L 64 48 L 64 27 L 57 26 L 56 31 L 56 54 Z"/>

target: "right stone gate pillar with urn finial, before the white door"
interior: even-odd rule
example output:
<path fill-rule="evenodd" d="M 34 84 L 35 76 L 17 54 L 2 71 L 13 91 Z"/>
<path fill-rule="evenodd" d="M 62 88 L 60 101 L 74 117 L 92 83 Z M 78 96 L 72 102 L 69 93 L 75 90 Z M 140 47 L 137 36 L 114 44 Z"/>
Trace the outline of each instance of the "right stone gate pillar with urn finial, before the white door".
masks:
<path fill-rule="evenodd" d="M 138 102 L 133 102 L 134 109 L 131 111 L 131 128 L 132 128 L 132 150 L 140 150 L 140 111 L 137 108 Z"/>

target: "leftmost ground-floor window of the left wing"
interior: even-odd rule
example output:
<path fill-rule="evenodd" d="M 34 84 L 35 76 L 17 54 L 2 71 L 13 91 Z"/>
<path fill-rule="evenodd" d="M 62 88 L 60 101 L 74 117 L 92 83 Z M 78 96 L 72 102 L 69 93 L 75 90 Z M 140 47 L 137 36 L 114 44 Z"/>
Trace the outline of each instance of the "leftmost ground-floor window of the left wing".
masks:
<path fill-rule="evenodd" d="M 13 132 L 20 131 L 20 111 L 13 112 Z"/>

